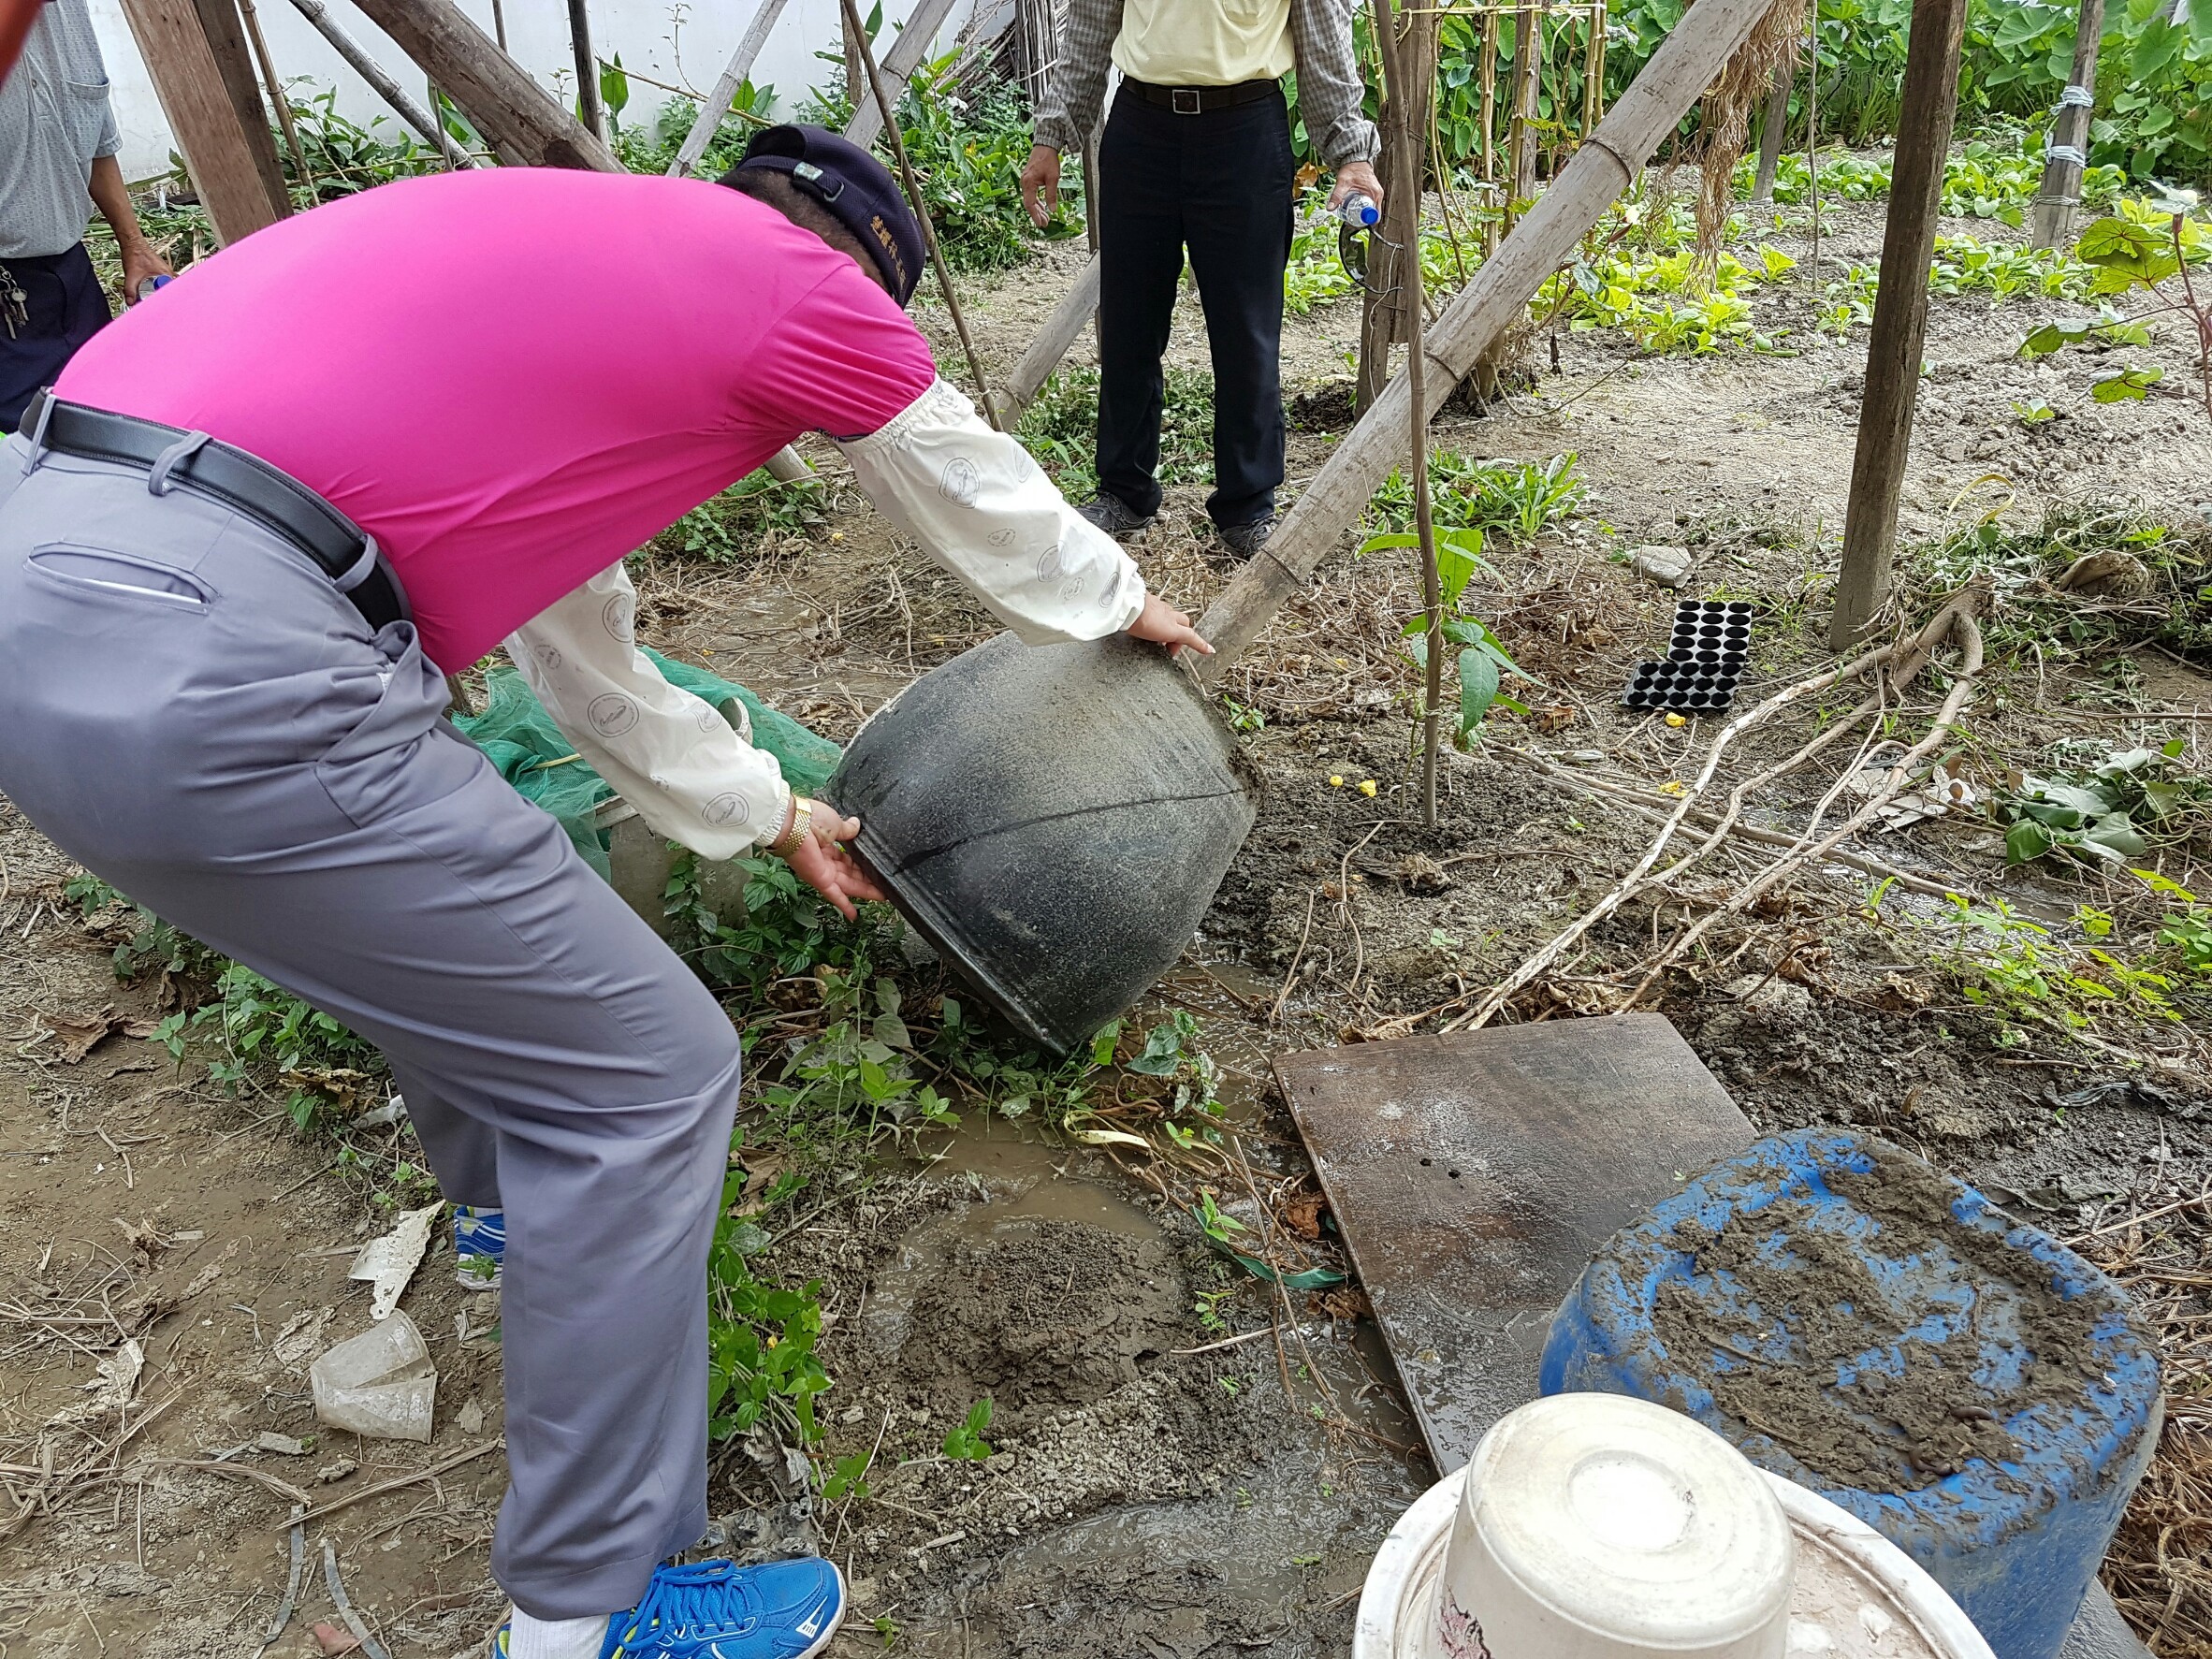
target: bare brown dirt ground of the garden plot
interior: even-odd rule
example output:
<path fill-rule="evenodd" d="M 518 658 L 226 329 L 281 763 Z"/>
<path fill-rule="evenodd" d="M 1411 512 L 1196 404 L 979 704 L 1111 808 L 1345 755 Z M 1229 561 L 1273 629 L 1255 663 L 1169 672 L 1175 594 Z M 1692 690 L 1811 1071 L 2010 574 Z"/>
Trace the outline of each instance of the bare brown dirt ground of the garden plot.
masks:
<path fill-rule="evenodd" d="M 1805 252 L 1787 215 L 1763 239 Z M 1847 210 L 1825 250 L 1871 263 L 1878 239 L 1878 210 Z M 1079 257 L 1057 248 L 969 285 L 993 365 L 1011 365 Z M 1756 303 L 1761 327 L 1790 330 L 1794 354 L 1650 358 L 1619 336 L 1568 334 L 1557 374 L 1482 418 L 1440 422 L 1438 442 L 1469 456 L 1573 451 L 1590 493 L 1533 546 L 1493 546 L 1495 575 L 1471 588 L 1542 695 L 1526 721 L 1495 721 L 1478 752 L 1447 759 L 1436 830 L 1413 810 L 1413 670 L 1394 650 L 1398 624 L 1420 608 L 1409 562 L 1334 564 L 1228 677 L 1228 695 L 1265 719 L 1245 737 L 1267 776 L 1261 821 L 1201 938 L 1137 1018 L 1203 1018 L 1254 1192 L 1279 1212 L 1310 1177 L 1267 1055 L 1383 1035 L 1502 978 L 1628 872 L 1666 785 L 1690 776 L 1710 743 L 1710 721 L 1670 728 L 1617 706 L 1628 664 L 1663 650 L 1674 602 L 1621 553 L 1688 544 L 1697 591 L 1761 602 L 1739 708 L 1818 664 L 1865 332 L 1812 336 L 1790 285 L 1759 290 Z M 2020 334 L 2051 310 L 1936 301 L 1905 538 L 2006 498 L 2004 522 L 2119 498 L 2212 538 L 2203 409 L 2179 396 L 2097 407 L 2084 358 L 2015 361 Z M 1356 319 L 1354 303 L 1292 319 L 1285 396 L 1332 400 Z M 925 325 L 940 361 L 958 363 L 942 314 L 925 310 Z M 1172 349 L 1203 365 L 1194 301 Z M 2137 356 L 2188 385 L 2172 338 Z M 2062 418 L 2022 427 L 2013 403 L 2037 398 Z M 1292 489 L 1340 434 L 1314 425 L 1325 422 L 1292 436 Z M 1135 549 L 1155 586 L 1190 608 L 1228 575 L 1201 500 L 1201 487 L 1175 487 Z M 814 540 L 739 564 L 664 555 L 639 582 L 646 639 L 836 739 L 989 633 L 849 489 Z M 1907 741 L 1938 692 L 1922 686 L 1898 710 Z M 2179 737 L 2201 768 L 2208 717 L 2212 679 L 2152 646 L 2095 675 L 2031 666 L 1986 688 L 1971 717 L 1973 765 L 2033 765 L 2070 739 Z M 1752 754 L 1778 761 L 1809 730 L 1776 726 Z M 1790 774 L 1750 821 L 1794 832 L 1840 768 L 1832 752 Z M 1369 779 L 1374 796 L 1356 790 Z M 2101 887 L 2006 872 L 1980 818 L 1854 845 L 2051 922 L 2084 898 L 2108 902 Z M 1765 856 L 1730 843 L 1703 876 L 1626 907 L 1582 960 L 1531 987 L 1515 1018 L 1617 1006 L 1635 984 L 1619 975 L 1646 947 Z M 133 1035 L 144 1026 L 122 1024 L 71 1062 L 44 1015 L 113 1006 L 153 1020 L 161 1009 L 159 987 L 115 982 L 108 942 L 62 898 L 69 874 L 0 803 L 0 1655 L 257 1655 L 285 1590 L 285 1517 L 296 1502 L 341 1500 L 305 1526 L 299 1617 L 274 1652 L 325 1652 L 319 1621 L 338 1639 L 325 1542 L 394 1659 L 473 1652 L 504 1610 L 487 1577 L 504 1480 L 487 1336 L 495 1296 L 453 1283 L 440 1234 L 403 1303 L 440 1371 L 434 1440 L 321 1429 L 305 1365 L 367 1325 L 369 1290 L 345 1279 L 347 1259 L 396 1208 L 427 1201 L 403 1170 L 405 1130 L 365 1130 L 341 1159 L 336 1141 L 290 1133 L 265 1084 L 232 1095 L 201 1064 L 179 1071 Z M 2183 865 L 2168 874 L 2208 891 Z M 2170 1467 L 2205 1455 L 2203 1033 L 2152 1031 L 2132 1057 L 2057 1037 L 2000 1044 L 1989 1011 L 1940 971 L 1944 900 L 1907 883 L 1869 918 L 1869 885 L 1840 865 L 1807 872 L 1644 1006 L 1677 1022 L 1761 1130 L 1867 1126 L 2117 1267 L 2163 1250 L 2166 1279 L 2135 1287 L 2157 1303 L 2174 1365 Z M 1166 1186 L 1102 1150 L 973 1115 L 931 1150 L 927 1164 L 849 1170 L 783 1223 L 768 1256 L 785 1281 L 823 1281 L 830 1453 L 874 1447 L 872 1493 L 810 1500 L 781 1449 L 739 1440 L 714 1464 L 721 1542 L 843 1562 L 854 1615 L 841 1655 L 1345 1652 L 1365 1564 L 1431 1478 L 1356 1303 L 1298 1296 L 1276 1332 L 1279 1303 L 1221 1265 Z M 2154 1225 L 2130 1221 L 2150 1212 Z M 2194 1267 L 2170 1270 L 2177 1259 Z M 1228 1296 L 1208 1301 L 1208 1325 L 1197 1305 L 1219 1290 Z M 126 1340 L 144 1349 L 133 1402 L 55 1422 L 97 1405 L 97 1367 L 113 1367 Z M 945 1458 L 938 1442 L 982 1394 L 1000 1409 L 993 1455 Z M 312 1444 L 268 1451 L 263 1433 Z M 418 1478 L 376 1493 L 403 1475 Z M 2159 1502 L 2197 1502 L 2172 1480 Z M 2212 1597 L 2201 1564 L 2146 1564 L 2135 1548 L 2108 1582 L 2161 1655 L 2212 1652 L 2190 1624 L 2212 1613 L 2212 1599 L 2188 1601 Z M 2185 1606 L 2201 1610 L 2174 1615 Z"/>

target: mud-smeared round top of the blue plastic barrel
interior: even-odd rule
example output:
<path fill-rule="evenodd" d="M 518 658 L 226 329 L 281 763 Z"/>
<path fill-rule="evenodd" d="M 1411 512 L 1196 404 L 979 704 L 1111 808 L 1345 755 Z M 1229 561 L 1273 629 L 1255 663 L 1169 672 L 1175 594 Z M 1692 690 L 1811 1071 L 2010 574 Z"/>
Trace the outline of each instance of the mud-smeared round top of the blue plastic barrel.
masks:
<path fill-rule="evenodd" d="M 1708 1396 L 1681 1405 L 1820 1486 L 2039 1462 L 2139 1340 L 2108 1281 L 1893 1148 L 1677 1206 L 1646 1294 L 1677 1387 Z"/>

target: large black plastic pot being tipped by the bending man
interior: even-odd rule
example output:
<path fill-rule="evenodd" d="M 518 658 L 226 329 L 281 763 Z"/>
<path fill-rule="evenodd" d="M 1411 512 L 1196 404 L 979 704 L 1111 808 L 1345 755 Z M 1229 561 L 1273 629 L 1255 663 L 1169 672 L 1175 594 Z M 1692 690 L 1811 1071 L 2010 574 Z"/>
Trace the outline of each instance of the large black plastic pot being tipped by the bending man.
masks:
<path fill-rule="evenodd" d="M 898 909 L 1064 1055 L 1190 945 L 1254 774 L 1159 646 L 1000 635 L 880 708 L 825 790 Z"/>

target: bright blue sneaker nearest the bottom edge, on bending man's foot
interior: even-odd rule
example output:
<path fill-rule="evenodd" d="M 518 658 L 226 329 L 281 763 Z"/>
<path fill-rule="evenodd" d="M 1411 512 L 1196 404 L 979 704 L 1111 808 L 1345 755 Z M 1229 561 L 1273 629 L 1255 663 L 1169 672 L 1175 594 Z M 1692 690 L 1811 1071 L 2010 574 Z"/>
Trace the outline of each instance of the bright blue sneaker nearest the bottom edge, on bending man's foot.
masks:
<path fill-rule="evenodd" d="M 606 1621 L 599 1659 L 812 1659 L 843 1621 L 836 1562 L 661 1566 L 646 1599 Z M 504 1624 L 491 1652 L 507 1659 Z"/>

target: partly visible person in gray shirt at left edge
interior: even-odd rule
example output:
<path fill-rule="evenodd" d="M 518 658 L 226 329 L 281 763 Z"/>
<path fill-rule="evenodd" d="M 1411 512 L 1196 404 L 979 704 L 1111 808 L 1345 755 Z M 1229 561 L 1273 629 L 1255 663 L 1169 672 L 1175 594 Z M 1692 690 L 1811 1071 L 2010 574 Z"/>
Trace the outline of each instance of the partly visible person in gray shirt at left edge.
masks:
<path fill-rule="evenodd" d="M 46 0 L 0 82 L 0 431 L 113 316 L 84 250 L 93 208 L 122 248 L 126 305 L 170 274 L 131 210 L 119 148 L 86 0 Z"/>

